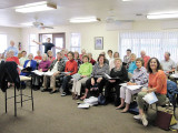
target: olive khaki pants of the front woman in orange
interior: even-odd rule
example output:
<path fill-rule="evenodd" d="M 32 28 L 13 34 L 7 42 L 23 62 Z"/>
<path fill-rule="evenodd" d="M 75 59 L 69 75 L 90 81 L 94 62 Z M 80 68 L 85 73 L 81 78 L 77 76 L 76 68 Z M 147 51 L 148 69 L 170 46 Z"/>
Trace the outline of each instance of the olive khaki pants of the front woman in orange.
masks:
<path fill-rule="evenodd" d="M 137 103 L 138 103 L 138 106 L 139 109 L 142 109 L 144 110 L 144 103 L 145 103 L 145 100 L 142 99 L 147 93 L 146 92 L 139 92 L 138 93 L 138 96 L 137 96 Z M 157 104 L 159 105 L 162 105 L 166 101 L 166 94 L 159 94 L 159 93 L 155 93 L 157 99 L 158 99 L 158 102 Z"/>

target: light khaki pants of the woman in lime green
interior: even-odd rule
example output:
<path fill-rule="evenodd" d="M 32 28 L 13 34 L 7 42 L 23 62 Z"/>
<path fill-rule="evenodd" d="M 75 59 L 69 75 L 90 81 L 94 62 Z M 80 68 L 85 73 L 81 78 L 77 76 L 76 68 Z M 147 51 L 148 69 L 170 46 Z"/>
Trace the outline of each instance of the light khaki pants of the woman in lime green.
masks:
<path fill-rule="evenodd" d="M 81 84 L 86 83 L 86 81 L 89 78 L 82 78 L 81 80 L 77 81 L 73 80 L 73 86 L 72 86 L 72 92 L 77 95 L 80 95 L 80 91 L 81 91 Z"/>

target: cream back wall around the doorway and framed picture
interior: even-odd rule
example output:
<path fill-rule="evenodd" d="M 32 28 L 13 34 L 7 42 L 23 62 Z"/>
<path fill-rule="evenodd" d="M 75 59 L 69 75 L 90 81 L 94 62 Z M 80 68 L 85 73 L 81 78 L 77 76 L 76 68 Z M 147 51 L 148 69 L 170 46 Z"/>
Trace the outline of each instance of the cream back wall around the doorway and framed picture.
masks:
<path fill-rule="evenodd" d="M 81 33 L 81 49 L 86 49 L 87 52 L 92 52 L 93 57 L 97 58 L 101 51 L 111 49 L 118 51 L 118 31 L 106 31 L 105 24 L 92 23 L 92 24 L 71 24 L 55 27 L 49 30 L 38 30 L 32 28 L 22 29 L 22 43 L 28 50 L 28 37 L 30 33 L 52 33 L 52 32 L 66 32 L 66 47 L 70 49 L 70 33 Z M 95 37 L 103 37 L 103 50 L 95 50 Z"/>

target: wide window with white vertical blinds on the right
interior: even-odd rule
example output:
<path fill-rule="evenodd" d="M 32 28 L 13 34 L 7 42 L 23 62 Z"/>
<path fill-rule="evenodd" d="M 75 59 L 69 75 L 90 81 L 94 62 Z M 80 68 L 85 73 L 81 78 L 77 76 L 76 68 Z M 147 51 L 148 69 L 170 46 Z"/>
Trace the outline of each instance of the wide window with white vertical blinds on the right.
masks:
<path fill-rule="evenodd" d="M 164 59 L 165 52 L 170 52 L 171 59 L 176 62 L 178 57 L 178 32 L 125 32 L 119 35 L 119 52 L 122 59 L 127 49 L 140 57 L 145 50 L 149 57 Z"/>

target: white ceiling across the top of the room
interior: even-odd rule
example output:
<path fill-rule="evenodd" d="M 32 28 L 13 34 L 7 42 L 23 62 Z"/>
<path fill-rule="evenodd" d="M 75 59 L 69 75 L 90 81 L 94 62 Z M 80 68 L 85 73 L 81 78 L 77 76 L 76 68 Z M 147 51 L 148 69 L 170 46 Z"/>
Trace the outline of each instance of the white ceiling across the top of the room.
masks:
<path fill-rule="evenodd" d="M 0 25 L 21 27 L 20 23 L 36 21 L 46 25 L 69 23 L 73 17 L 96 16 L 102 22 L 110 16 L 117 20 L 146 20 L 147 13 L 178 11 L 178 0 L 48 0 L 58 9 L 36 13 L 18 13 L 14 7 L 43 0 L 0 0 Z M 136 16 L 141 13 L 142 16 Z"/>

